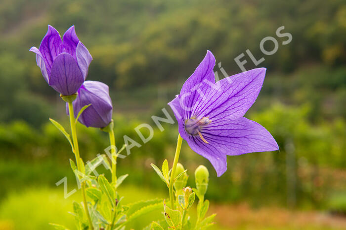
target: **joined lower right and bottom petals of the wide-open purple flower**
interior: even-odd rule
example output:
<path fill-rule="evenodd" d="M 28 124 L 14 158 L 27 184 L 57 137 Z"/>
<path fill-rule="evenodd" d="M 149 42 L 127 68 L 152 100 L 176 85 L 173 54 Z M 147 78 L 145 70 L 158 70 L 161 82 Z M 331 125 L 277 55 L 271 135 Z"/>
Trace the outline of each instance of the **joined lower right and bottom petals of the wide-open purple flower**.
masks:
<path fill-rule="evenodd" d="M 276 141 L 265 128 L 245 117 L 236 120 L 225 119 L 217 122 L 215 126 L 204 127 L 201 133 L 209 142 L 208 144 L 198 135 L 187 134 L 183 127 L 182 129 L 179 127 L 179 133 L 185 138 L 187 136 L 189 146 L 196 153 L 213 164 L 217 176 L 221 176 L 226 171 L 226 155 L 235 156 L 279 149 Z"/>

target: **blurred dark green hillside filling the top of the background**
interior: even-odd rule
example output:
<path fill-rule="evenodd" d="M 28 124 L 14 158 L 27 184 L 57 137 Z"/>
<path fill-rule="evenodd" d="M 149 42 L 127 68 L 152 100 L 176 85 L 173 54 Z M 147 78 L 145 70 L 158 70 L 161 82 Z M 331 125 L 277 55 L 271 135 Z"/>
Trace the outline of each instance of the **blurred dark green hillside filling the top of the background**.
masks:
<path fill-rule="evenodd" d="M 207 49 L 229 75 L 241 71 L 234 58 L 249 49 L 257 60 L 264 57 L 260 66 L 268 68 L 261 97 L 311 101 L 315 117 L 345 116 L 343 0 L 2 0 L 0 15 L 2 122 L 21 119 L 39 125 L 57 113 L 48 106 L 60 104 L 56 92 L 28 51 L 40 45 L 47 24 L 60 33 L 76 26 L 94 58 L 88 79 L 110 85 L 117 111 L 152 108 L 160 93 L 165 102 L 170 100 Z M 292 42 L 282 45 L 286 38 L 276 37 L 278 52 L 263 55 L 260 40 L 275 37 L 280 26 L 292 34 Z M 247 69 L 255 67 L 247 61 Z M 311 71 L 296 76 L 297 69 Z M 272 77 L 274 72 L 278 77 Z"/>

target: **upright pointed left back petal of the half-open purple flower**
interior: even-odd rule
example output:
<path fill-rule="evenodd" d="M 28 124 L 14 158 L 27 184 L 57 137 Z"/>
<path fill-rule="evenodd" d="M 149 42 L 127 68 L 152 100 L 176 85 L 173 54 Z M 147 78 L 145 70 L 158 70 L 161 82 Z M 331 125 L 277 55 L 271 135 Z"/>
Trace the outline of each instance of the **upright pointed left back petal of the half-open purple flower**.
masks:
<path fill-rule="evenodd" d="M 48 31 L 40 44 L 40 52 L 47 68 L 48 76 L 50 75 L 53 62 L 61 53 L 62 48 L 63 45 L 59 32 L 54 27 L 48 25 Z"/>

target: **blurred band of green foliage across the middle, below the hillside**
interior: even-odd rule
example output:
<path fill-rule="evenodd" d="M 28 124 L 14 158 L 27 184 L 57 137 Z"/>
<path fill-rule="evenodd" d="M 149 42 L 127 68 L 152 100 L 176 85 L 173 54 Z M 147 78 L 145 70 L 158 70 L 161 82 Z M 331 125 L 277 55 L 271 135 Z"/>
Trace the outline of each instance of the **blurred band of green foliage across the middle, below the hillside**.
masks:
<path fill-rule="evenodd" d="M 291 107 L 277 103 L 262 112 L 251 112 L 248 117 L 273 134 L 280 151 L 230 156 L 228 170 L 222 177 L 216 178 L 211 164 L 195 154 L 186 143 L 182 146 L 180 161 L 190 172 L 199 164 L 209 167 L 213 180 L 210 181 L 207 198 L 212 200 L 224 202 L 245 199 L 254 205 L 284 205 L 290 194 L 294 194 L 292 205 L 326 207 L 330 193 L 346 189 L 346 173 L 343 170 L 346 167 L 346 123 L 343 119 L 336 119 L 312 125 L 309 122 L 310 113 L 311 106 L 308 104 Z M 162 112 L 156 115 L 163 116 Z M 160 165 L 165 158 L 173 161 L 177 127 L 165 124 L 165 130 L 161 132 L 152 121 L 129 121 L 126 116 L 119 114 L 114 119 L 118 148 L 124 143 L 123 135 L 128 135 L 142 145 L 130 149 L 130 156 L 119 159 L 119 175 L 131 172 L 127 179 L 129 183 L 165 189 L 150 164 Z M 145 144 L 134 131 L 143 122 L 154 128 L 153 138 Z M 141 131 L 144 136 L 149 135 L 145 129 Z M 79 125 L 78 132 L 81 153 L 86 161 L 97 153 L 103 153 L 103 149 L 108 146 L 108 138 L 102 131 Z M 11 175 L 8 179 L 12 182 L 5 180 L 6 184 L 18 187 L 18 184 L 26 186 L 38 182 L 53 186 L 62 177 L 69 175 L 68 182 L 75 185 L 68 167 L 68 158 L 73 158 L 71 148 L 53 125 L 47 123 L 42 129 L 36 130 L 25 123 L 14 122 L 1 126 L 0 133 L 6 133 L 0 135 L 0 149 L 3 150 L 3 161 L 7 162 L 1 164 L 0 177 L 8 178 Z M 44 164 L 37 167 L 37 164 L 20 163 L 23 161 Z M 23 166 L 18 167 L 19 164 Z M 61 167 L 54 169 L 53 164 Z M 50 173 L 44 173 L 46 168 L 51 168 L 48 169 Z M 97 170 L 99 173 L 105 171 L 103 166 Z M 42 177 L 40 172 L 46 176 Z M 4 196 L 11 189 L 14 187 L 4 189 L 1 195 Z"/>

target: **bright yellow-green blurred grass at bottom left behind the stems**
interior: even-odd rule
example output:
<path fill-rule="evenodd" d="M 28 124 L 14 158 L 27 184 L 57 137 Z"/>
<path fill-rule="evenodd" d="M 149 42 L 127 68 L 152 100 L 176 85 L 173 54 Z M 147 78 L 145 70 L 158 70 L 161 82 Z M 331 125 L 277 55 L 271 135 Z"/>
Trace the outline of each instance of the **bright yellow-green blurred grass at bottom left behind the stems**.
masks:
<path fill-rule="evenodd" d="M 165 194 L 151 192 L 134 186 L 119 189 L 125 195 L 124 203 L 142 199 L 164 197 Z M 131 197 L 131 199 L 129 198 Z M 80 193 L 64 199 L 63 189 L 29 188 L 19 193 L 10 193 L 0 203 L 0 230 L 38 230 L 53 229 L 48 223 L 61 224 L 69 229 L 74 228 L 72 201 L 81 201 Z M 133 229 L 143 228 L 149 220 L 161 219 L 161 211 L 149 213 L 130 226 Z"/>

